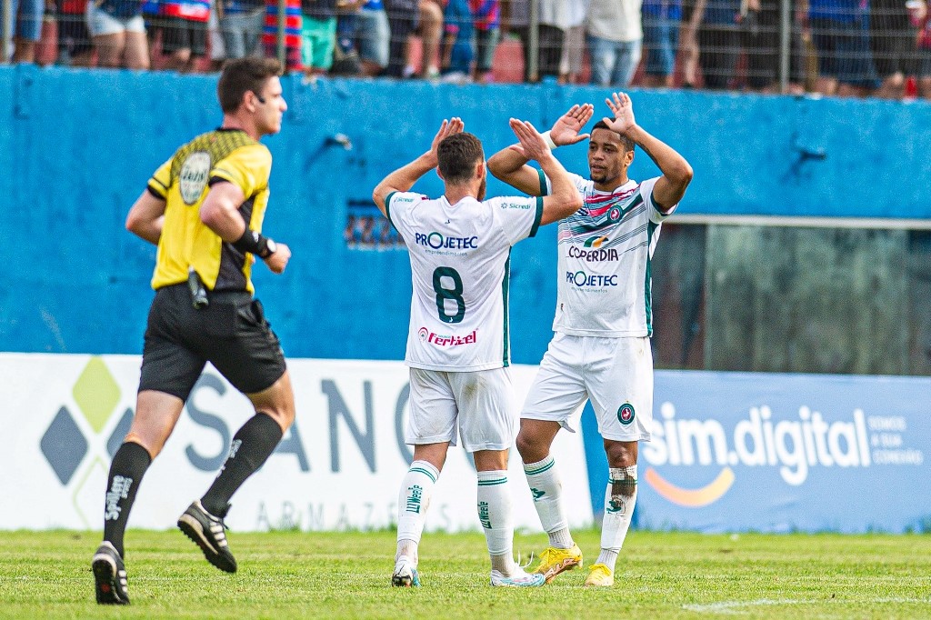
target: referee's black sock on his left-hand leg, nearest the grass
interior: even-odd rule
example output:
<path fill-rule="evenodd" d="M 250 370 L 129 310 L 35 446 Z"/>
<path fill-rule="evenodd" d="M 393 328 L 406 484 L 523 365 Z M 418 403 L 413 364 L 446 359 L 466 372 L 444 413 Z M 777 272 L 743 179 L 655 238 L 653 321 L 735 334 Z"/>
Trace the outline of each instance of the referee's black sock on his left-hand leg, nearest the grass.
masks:
<path fill-rule="evenodd" d="M 138 443 L 127 441 L 114 454 L 107 479 L 107 494 L 103 505 L 103 540 L 115 546 L 121 558 L 123 534 L 142 475 L 152 465 L 149 451 Z"/>

